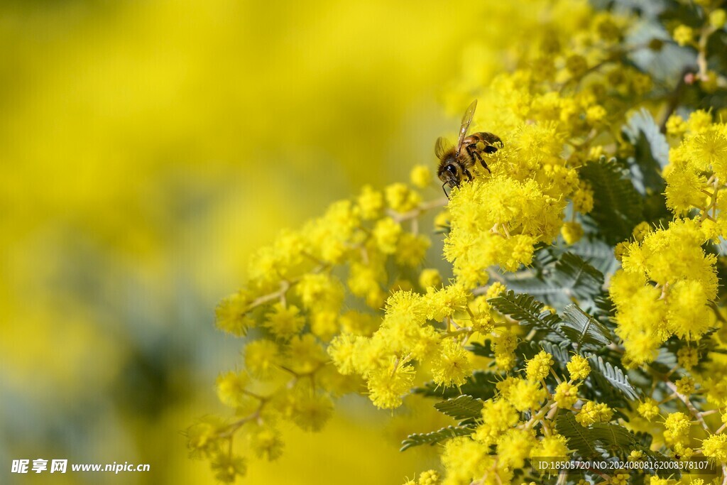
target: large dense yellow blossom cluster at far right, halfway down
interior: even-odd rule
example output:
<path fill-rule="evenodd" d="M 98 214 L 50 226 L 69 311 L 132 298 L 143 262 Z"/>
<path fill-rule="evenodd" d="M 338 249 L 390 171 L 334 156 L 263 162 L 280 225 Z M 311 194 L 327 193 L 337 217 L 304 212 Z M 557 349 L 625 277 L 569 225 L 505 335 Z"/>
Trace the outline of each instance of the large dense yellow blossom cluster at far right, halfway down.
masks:
<path fill-rule="evenodd" d="M 702 249 L 705 241 L 699 224 L 686 219 L 627 246 L 609 293 L 616 333 L 636 364 L 654 360 L 672 334 L 696 340 L 715 321 L 709 305 L 717 294 L 716 259 Z"/>

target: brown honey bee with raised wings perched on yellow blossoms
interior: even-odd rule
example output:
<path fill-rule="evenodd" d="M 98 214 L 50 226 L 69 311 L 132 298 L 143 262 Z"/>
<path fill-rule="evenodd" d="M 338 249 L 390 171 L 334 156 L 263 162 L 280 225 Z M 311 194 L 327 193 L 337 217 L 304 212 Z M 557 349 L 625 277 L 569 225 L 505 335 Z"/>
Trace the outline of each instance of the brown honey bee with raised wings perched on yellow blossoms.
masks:
<path fill-rule="evenodd" d="M 444 195 L 449 199 L 444 185 L 449 187 L 459 187 L 462 183 L 462 177 L 467 176 L 467 180 L 472 180 L 472 173 L 470 168 L 473 167 L 479 160 L 482 167 L 490 172 L 489 167 L 482 158 L 482 154 L 495 153 L 497 146 L 495 143 L 499 143 L 502 146 L 502 140 L 497 135 L 487 132 L 473 133 L 467 136 L 467 129 L 470 128 L 472 118 L 475 116 L 475 108 L 477 108 L 477 100 L 474 100 L 467 111 L 465 116 L 462 116 L 462 126 L 459 127 L 459 140 L 457 140 L 457 147 L 454 147 L 444 137 L 438 137 L 437 143 L 434 145 L 434 153 L 439 159 L 439 168 L 437 175 L 439 180 L 442 181 L 442 190 Z"/>

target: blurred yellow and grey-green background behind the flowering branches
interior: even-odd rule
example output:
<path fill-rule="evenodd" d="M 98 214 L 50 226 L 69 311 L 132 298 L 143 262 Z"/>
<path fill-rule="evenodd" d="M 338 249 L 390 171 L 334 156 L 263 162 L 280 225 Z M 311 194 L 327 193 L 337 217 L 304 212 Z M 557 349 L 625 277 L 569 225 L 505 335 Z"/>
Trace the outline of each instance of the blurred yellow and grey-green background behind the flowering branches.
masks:
<path fill-rule="evenodd" d="M 506 27 L 492 3 L 2 2 L 0 483 L 214 483 L 182 436 L 228 412 L 214 379 L 241 345 L 214 305 L 281 228 L 435 164 L 445 88 L 486 76 Z M 396 452 L 406 420 L 349 398 L 246 483 L 401 483 L 432 459 Z"/>

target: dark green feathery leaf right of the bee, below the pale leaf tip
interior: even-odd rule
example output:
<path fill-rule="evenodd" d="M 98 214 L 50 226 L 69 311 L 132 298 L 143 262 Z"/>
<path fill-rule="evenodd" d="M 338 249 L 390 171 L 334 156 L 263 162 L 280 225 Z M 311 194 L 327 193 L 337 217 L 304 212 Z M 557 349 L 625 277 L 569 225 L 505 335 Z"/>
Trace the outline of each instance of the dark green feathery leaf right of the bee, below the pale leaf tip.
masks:
<path fill-rule="evenodd" d="M 615 159 L 592 161 L 580 170 L 582 180 L 593 188 L 593 211 L 587 216 L 608 244 L 631 236 L 643 220 L 642 200 L 624 168 Z"/>

